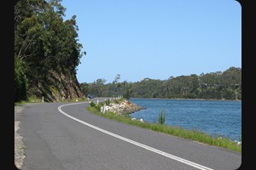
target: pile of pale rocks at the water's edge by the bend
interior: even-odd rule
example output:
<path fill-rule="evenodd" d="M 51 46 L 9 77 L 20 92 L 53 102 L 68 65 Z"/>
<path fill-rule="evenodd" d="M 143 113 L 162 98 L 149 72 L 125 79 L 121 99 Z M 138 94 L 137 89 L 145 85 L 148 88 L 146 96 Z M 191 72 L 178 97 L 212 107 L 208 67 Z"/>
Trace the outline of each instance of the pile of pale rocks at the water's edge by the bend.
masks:
<path fill-rule="evenodd" d="M 110 105 L 104 105 L 101 108 L 101 111 L 104 113 L 105 111 L 112 111 L 114 113 L 118 114 L 131 114 L 135 111 L 141 111 L 143 108 L 141 106 L 138 106 L 136 104 L 131 103 L 129 100 L 124 100 L 120 104 L 111 103 Z"/>

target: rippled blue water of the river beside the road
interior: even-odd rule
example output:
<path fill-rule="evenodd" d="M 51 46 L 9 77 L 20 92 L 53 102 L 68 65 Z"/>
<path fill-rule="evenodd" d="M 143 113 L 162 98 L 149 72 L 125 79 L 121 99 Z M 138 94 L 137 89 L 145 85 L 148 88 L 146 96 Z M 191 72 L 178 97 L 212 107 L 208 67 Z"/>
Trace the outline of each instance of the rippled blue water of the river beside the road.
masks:
<path fill-rule="evenodd" d="M 146 107 L 130 116 L 144 122 L 158 122 L 160 111 L 166 112 L 165 124 L 199 130 L 213 137 L 241 138 L 241 101 L 193 99 L 129 99 Z"/>

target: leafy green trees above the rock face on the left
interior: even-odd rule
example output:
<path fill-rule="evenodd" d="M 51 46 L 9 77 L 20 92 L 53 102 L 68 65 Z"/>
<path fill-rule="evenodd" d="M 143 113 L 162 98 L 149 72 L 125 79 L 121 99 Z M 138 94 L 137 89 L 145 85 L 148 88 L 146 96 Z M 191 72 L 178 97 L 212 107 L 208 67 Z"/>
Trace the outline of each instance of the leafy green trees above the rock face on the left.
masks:
<path fill-rule="evenodd" d="M 61 73 L 76 76 L 84 53 L 78 42 L 76 16 L 64 21 L 65 11 L 61 0 L 20 0 L 15 4 L 15 59 L 19 59 L 15 63 L 24 65 L 29 89 L 45 83 L 56 86 L 54 79 Z"/>

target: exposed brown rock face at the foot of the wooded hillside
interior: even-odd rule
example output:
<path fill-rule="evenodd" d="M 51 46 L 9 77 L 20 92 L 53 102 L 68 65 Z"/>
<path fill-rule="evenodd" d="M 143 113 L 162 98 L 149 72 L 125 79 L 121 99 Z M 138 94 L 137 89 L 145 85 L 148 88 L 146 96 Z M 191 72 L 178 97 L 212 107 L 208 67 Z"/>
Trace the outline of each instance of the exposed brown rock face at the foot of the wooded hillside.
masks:
<path fill-rule="evenodd" d="M 37 88 L 32 89 L 32 94 L 38 98 L 44 96 L 44 100 L 49 102 L 61 102 L 77 98 L 85 99 L 77 77 L 69 72 L 50 71 L 48 80 L 38 82 Z"/>

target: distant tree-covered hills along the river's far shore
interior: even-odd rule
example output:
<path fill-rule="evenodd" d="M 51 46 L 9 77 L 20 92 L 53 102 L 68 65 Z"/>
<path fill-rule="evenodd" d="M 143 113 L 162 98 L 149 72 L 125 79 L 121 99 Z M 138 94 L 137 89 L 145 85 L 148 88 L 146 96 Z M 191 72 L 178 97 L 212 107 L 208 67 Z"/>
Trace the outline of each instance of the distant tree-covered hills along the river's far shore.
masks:
<path fill-rule="evenodd" d="M 201 73 L 200 76 L 169 77 L 167 80 L 144 78 L 140 82 L 113 82 L 99 78 L 95 82 L 80 84 L 83 93 L 96 96 L 166 99 L 241 99 L 241 68 Z"/>

